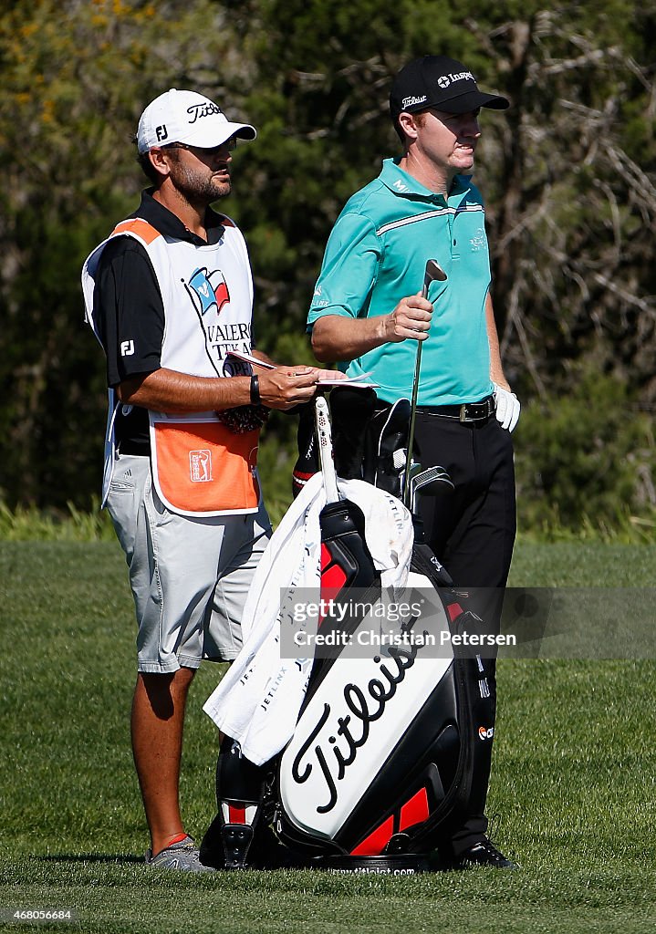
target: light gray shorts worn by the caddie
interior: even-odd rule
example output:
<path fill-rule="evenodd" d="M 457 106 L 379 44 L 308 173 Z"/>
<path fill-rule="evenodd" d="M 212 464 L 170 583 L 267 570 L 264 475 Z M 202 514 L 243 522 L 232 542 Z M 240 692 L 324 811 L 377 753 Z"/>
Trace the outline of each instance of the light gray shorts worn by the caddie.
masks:
<path fill-rule="evenodd" d="M 253 573 L 271 537 L 264 505 L 247 516 L 169 512 L 151 483 L 150 459 L 121 455 L 107 509 L 130 569 L 139 672 L 232 661 Z"/>

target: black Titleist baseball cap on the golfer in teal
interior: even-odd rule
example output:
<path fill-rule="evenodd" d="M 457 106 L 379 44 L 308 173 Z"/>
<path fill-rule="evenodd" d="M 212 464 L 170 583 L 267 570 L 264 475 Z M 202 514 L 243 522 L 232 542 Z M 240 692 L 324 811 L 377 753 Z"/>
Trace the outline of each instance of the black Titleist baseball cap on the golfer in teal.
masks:
<path fill-rule="evenodd" d="M 401 69 L 392 84 L 390 113 L 415 113 L 435 107 L 448 114 L 466 114 L 478 107 L 505 110 L 506 97 L 478 91 L 476 78 L 462 62 L 446 55 L 424 55 Z"/>

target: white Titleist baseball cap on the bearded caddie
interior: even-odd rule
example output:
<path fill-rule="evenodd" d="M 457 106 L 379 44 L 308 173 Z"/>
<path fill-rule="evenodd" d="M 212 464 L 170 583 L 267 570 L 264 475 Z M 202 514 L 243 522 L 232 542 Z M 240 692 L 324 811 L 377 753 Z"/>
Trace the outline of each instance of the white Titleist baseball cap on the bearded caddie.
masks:
<path fill-rule="evenodd" d="M 231 136 L 255 139 L 256 135 L 249 123 L 231 123 L 221 107 L 203 94 L 171 88 L 151 101 L 141 114 L 136 145 L 139 152 L 169 143 L 213 149 Z"/>

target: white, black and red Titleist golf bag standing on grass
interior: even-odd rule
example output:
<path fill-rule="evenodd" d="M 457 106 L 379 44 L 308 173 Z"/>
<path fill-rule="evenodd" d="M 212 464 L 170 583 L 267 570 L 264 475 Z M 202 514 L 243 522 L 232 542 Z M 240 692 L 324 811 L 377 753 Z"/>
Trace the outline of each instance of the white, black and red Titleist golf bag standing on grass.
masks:
<path fill-rule="evenodd" d="M 375 600 L 380 579 L 364 517 L 354 502 L 338 498 L 325 400 L 317 408 L 328 494 L 320 519 L 321 586 L 337 603 L 353 590 Z M 396 417 L 406 424 L 403 406 Z M 207 862 L 396 873 L 435 868 L 432 854 L 458 826 L 474 776 L 481 767 L 486 773 L 479 760 L 491 755 L 494 707 L 486 659 L 450 647 L 453 634 L 476 632 L 481 621 L 421 542 L 419 527 L 407 586 L 433 595 L 434 642 L 421 644 L 424 621 L 410 616 L 401 644 L 373 647 L 364 658 L 347 649 L 315 658 L 292 740 L 278 757 L 256 769 L 231 755 L 232 747 L 221 748 L 220 814 L 201 850 Z M 332 625 L 324 619 L 322 632 Z M 367 616 L 347 616 L 338 627 L 342 644 L 358 644 L 366 627 Z M 435 643 L 447 646 L 440 657 Z M 278 845 L 272 846 L 271 828 Z"/>

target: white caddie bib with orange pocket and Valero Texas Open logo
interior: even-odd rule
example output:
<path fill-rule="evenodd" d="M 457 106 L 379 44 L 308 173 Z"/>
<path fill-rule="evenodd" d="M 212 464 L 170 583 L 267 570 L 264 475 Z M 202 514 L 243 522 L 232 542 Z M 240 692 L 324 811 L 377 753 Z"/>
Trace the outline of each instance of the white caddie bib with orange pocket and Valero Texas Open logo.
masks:
<path fill-rule="evenodd" d="M 122 221 L 111 236 L 127 235 L 146 249 L 164 304 L 163 368 L 209 378 L 248 375 L 249 364 L 230 352 L 250 354 L 252 277 L 248 251 L 228 218 L 217 243 L 196 246 L 159 233 L 144 219 Z M 111 238 L 111 237 L 110 237 Z M 107 240 L 85 263 L 82 286 L 93 325 L 93 282 Z M 97 333 L 96 333 L 97 336 Z M 116 460 L 110 391 L 103 503 Z M 230 431 L 214 412 L 171 416 L 149 412 L 152 477 L 164 505 L 184 516 L 256 512 L 259 429 Z"/>

